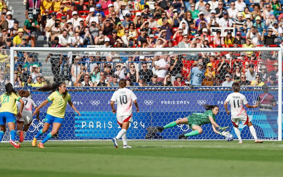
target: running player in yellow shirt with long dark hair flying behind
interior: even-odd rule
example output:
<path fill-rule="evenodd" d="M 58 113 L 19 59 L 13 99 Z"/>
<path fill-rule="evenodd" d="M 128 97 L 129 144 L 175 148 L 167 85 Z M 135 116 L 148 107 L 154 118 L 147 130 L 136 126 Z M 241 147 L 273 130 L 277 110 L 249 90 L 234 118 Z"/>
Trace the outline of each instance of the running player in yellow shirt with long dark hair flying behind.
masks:
<path fill-rule="evenodd" d="M 49 97 L 37 107 L 33 113 L 32 116 L 37 114 L 40 108 L 42 108 L 44 105 L 46 105 L 48 102 L 52 102 L 51 106 L 47 109 L 47 115 L 44 120 L 44 127 L 38 132 L 38 134 L 33 138 L 32 140 L 32 146 L 36 145 L 36 140 L 39 138 L 43 133 L 45 133 L 51 124 L 53 124 L 52 131 L 38 144 L 39 148 L 44 148 L 43 143 L 48 141 L 50 138 L 52 138 L 53 135 L 55 135 L 59 128 L 61 127 L 62 121 L 64 120 L 65 116 L 65 110 L 67 102 L 69 105 L 77 112 L 79 115 L 80 112 L 75 108 L 71 101 L 71 95 L 66 90 L 65 83 L 58 83 L 51 86 L 45 86 L 37 89 L 39 91 L 50 91 L 51 94 Z"/>

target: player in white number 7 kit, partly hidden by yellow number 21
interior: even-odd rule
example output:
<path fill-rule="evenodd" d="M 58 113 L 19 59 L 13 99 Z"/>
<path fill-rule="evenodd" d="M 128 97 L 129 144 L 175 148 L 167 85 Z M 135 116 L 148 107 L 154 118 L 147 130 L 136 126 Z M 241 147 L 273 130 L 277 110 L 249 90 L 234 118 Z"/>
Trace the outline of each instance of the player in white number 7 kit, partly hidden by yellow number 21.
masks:
<path fill-rule="evenodd" d="M 35 102 L 29 98 L 30 93 L 29 91 L 21 90 L 19 91 L 20 97 L 22 97 L 22 100 L 24 101 L 24 109 L 22 111 L 22 117 L 20 119 L 17 119 L 17 135 L 20 136 L 20 140 L 18 145 L 20 146 L 21 142 L 24 141 L 24 138 L 27 136 L 28 128 L 30 127 L 32 123 L 32 108 L 36 108 L 37 105 Z M 17 101 L 17 112 L 20 111 L 21 104 Z M 39 112 L 36 115 L 36 120 L 39 121 Z M 24 129 L 23 129 L 24 127 Z"/>

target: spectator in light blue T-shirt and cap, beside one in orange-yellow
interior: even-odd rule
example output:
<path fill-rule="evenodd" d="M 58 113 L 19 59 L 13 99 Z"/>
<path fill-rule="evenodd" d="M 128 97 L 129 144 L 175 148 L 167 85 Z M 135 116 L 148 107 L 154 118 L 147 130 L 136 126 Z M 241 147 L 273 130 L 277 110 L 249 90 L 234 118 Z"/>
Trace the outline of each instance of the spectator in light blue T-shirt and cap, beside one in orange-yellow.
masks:
<path fill-rule="evenodd" d="M 204 65 L 200 61 L 198 62 L 196 67 L 193 67 L 191 72 L 189 73 L 188 76 L 188 81 L 190 82 L 191 86 L 201 86 L 201 83 L 203 82 L 204 79 Z"/>

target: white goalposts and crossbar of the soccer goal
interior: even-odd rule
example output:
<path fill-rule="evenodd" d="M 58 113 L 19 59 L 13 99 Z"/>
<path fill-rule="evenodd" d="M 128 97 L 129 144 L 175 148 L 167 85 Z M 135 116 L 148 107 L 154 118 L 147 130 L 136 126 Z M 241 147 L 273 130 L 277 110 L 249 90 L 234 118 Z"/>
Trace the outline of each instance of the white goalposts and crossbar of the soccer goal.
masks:
<path fill-rule="evenodd" d="M 13 84 L 14 80 L 14 52 L 157 52 L 155 48 L 56 48 L 56 47 L 11 47 L 10 48 L 10 82 Z M 255 48 L 158 48 L 158 52 L 264 52 L 277 51 L 278 52 L 278 74 L 282 77 L 282 48 L 280 47 L 255 47 Z M 282 141 L 282 79 L 278 79 L 278 141 Z"/>

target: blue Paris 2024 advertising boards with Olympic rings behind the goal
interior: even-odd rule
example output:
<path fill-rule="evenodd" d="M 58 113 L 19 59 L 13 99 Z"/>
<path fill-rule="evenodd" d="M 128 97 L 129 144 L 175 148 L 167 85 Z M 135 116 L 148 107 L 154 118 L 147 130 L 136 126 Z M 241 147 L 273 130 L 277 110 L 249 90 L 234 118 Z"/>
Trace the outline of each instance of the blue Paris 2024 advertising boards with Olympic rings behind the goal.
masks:
<path fill-rule="evenodd" d="M 81 116 L 75 114 L 70 106 L 66 108 L 65 120 L 59 130 L 59 139 L 110 139 L 120 130 L 116 122 L 116 115 L 111 112 L 110 98 L 114 91 L 86 92 L 71 91 L 72 101 L 76 108 L 82 113 Z M 140 107 L 139 113 L 133 113 L 133 122 L 130 125 L 127 137 L 129 139 L 144 139 L 147 133 L 146 127 L 164 126 L 178 118 L 183 118 L 192 112 L 204 112 L 203 104 L 219 105 L 220 112 L 216 116 L 216 121 L 221 126 L 231 127 L 233 125 L 230 116 L 226 115 L 223 103 L 229 91 L 134 91 L 138 97 Z M 242 91 L 247 97 L 250 105 L 254 104 L 259 91 Z M 278 100 L 277 92 L 270 92 Z M 48 94 L 34 92 L 33 100 L 37 105 L 44 101 Z M 49 105 L 50 103 L 48 103 Z M 277 103 L 278 104 L 278 103 Z M 41 118 L 46 116 L 47 106 L 41 109 Z M 277 109 L 277 106 L 275 107 Z M 255 124 L 259 138 L 276 139 L 277 137 L 277 111 L 263 112 L 248 111 L 248 116 Z M 28 139 L 32 139 L 44 123 L 34 120 L 31 124 Z M 240 125 L 243 139 L 251 139 L 247 126 Z M 51 128 L 50 128 L 51 130 Z M 204 133 L 190 139 L 219 139 L 211 125 L 203 126 Z M 179 134 L 189 132 L 187 125 L 178 125 L 157 134 L 156 138 L 175 139 Z"/>

